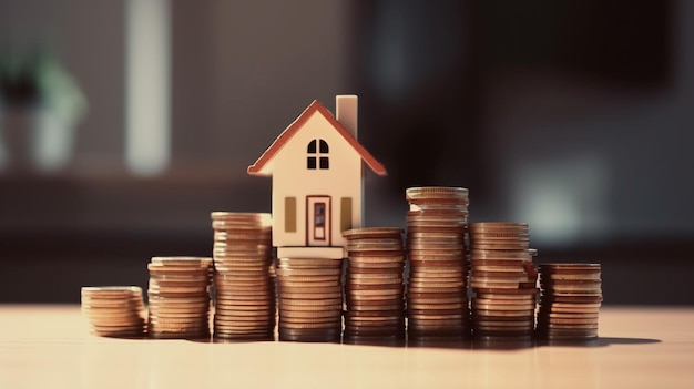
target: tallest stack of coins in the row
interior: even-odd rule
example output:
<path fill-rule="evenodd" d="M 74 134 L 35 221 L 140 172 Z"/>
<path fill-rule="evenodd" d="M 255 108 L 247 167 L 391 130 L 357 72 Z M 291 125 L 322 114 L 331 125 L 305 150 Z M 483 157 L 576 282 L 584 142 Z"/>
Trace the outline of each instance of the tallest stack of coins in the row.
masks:
<path fill-rule="evenodd" d="M 468 336 L 468 190 L 410 187 L 406 197 L 408 336 Z"/>

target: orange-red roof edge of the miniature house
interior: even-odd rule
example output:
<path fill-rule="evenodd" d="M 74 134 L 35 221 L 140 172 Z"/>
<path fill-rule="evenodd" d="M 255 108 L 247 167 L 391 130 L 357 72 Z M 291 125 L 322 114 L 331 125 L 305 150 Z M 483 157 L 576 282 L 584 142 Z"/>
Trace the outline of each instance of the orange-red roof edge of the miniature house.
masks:
<path fill-rule="evenodd" d="M 267 175 L 261 173 L 263 167 L 272 161 L 275 154 L 296 134 L 303 126 L 304 123 L 314 114 L 314 112 L 320 113 L 331 125 L 349 143 L 354 150 L 359 153 L 361 160 L 366 162 L 366 164 L 374 171 L 374 173 L 378 175 L 386 175 L 386 168 L 384 165 L 376 161 L 374 155 L 371 155 L 364 146 L 357 142 L 357 140 L 351 136 L 351 134 L 345 130 L 345 127 L 333 116 L 330 111 L 328 111 L 318 100 L 314 100 L 310 105 L 292 123 L 285 131 L 277 136 L 275 142 L 261 155 L 261 157 L 251 166 L 248 166 L 248 174 L 253 175 Z"/>

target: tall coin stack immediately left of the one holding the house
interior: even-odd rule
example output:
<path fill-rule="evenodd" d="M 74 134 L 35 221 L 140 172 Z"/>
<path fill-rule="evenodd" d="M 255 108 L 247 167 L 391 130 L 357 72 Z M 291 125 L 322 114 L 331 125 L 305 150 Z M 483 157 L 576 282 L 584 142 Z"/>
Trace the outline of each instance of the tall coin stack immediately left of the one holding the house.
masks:
<path fill-rule="evenodd" d="M 213 212 L 212 227 L 215 338 L 274 339 L 271 215 Z"/>

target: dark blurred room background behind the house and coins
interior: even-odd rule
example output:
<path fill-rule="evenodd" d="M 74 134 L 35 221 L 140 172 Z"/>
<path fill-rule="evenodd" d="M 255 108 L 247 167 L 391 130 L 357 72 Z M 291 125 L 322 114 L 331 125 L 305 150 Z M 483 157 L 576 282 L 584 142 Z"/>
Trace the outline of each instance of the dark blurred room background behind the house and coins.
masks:
<path fill-rule="evenodd" d="M 0 303 L 146 286 L 314 100 L 359 95 L 366 224 L 470 190 L 605 304 L 694 304 L 694 2 L 0 0 Z"/>

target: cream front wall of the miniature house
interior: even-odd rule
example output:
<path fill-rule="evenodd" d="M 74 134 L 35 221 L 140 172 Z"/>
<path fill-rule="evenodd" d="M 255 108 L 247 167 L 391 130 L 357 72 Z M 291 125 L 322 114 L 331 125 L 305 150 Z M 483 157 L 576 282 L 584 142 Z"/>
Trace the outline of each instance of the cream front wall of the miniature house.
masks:
<path fill-rule="evenodd" d="M 307 146 L 324 140 L 329 147 L 329 168 L 306 167 Z M 318 155 L 316 155 L 318 156 Z M 353 227 L 361 226 L 361 156 L 318 111 L 312 114 L 271 162 L 273 174 L 273 245 L 306 245 L 306 196 L 331 196 L 331 246 L 344 246 L 340 198 L 351 198 Z M 296 197 L 296 232 L 285 232 L 285 197 Z"/>

